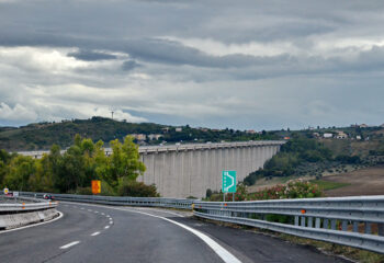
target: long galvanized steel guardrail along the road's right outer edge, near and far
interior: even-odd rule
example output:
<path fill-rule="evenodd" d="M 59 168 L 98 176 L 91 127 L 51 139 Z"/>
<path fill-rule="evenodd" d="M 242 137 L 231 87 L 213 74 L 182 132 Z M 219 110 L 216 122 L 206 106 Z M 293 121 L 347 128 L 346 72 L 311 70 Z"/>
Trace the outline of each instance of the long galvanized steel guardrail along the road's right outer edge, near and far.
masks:
<path fill-rule="evenodd" d="M 38 193 L 23 196 L 41 197 Z M 193 209 L 194 216 L 384 253 L 384 196 L 255 202 L 55 195 L 60 201 Z"/>

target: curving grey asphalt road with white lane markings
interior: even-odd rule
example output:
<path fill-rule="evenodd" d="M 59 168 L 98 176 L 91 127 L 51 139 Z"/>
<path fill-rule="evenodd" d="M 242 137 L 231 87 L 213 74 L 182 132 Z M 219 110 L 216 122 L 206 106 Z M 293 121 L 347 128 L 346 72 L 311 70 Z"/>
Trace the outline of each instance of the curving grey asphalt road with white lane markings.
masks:
<path fill-rule="evenodd" d="M 347 262 L 174 210 L 75 203 L 58 210 L 56 221 L 0 232 L 0 262 Z"/>

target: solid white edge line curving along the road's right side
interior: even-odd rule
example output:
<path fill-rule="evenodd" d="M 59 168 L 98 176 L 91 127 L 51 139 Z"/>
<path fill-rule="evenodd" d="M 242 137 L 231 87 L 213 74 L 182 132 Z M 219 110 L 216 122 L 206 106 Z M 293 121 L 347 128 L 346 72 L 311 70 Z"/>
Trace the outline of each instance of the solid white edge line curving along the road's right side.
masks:
<path fill-rule="evenodd" d="M 114 208 L 117 209 L 117 208 Z M 128 210 L 129 211 L 129 210 Z M 205 233 L 202 233 L 201 231 L 197 231 L 191 227 L 188 227 L 183 224 L 173 221 L 169 218 L 166 217 L 160 217 L 160 216 L 155 216 L 148 213 L 144 213 L 144 211 L 137 211 L 137 210 L 132 210 L 134 213 L 139 213 L 143 215 L 147 215 L 147 216 L 151 216 L 151 217 L 156 217 L 156 218 L 160 218 L 162 220 L 172 222 L 192 233 L 194 233 L 195 236 L 197 236 L 201 240 L 203 240 L 225 263 L 241 263 L 241 261 L 239 261 L 235 255 L 233 255 L 229 251 L 227 251 L 226 249 L 224 249 L 222 245 L 219 245 L 216 241 L 214 241 L 212 238 L 210 238 L 208 236 L 206 236 Z"/>

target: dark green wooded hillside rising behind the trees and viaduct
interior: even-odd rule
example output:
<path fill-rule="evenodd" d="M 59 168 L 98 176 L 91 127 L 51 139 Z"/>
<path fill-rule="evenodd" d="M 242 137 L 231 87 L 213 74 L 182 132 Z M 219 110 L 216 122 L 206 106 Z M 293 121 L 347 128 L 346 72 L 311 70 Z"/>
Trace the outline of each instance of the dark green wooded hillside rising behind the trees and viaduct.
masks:
<path fill-rule="evenodd" d="M 155 140 L 143 139 L 142 145 L 167 142 L 219 142 L 258 139 L 279 139 L 273 132 L 262 134 L 248 134 L 233 129 L 207 129 L 181 126 L 179 129 L 172 126 L 153 123 L 125 123 L 111 118 L 92 117 L 89 119 L 64 121 L 61 123 L 38 123 L 22 127 L 0 127 L 0 149 L 8 151 L 43 150 L 52 145 L 61 148 L 69 147 L 74 137 L 91 138 L 93 141 L 103 140 L 106 144 L 113 139 L 123 139 L 126 135 L 158 135 Z"/>

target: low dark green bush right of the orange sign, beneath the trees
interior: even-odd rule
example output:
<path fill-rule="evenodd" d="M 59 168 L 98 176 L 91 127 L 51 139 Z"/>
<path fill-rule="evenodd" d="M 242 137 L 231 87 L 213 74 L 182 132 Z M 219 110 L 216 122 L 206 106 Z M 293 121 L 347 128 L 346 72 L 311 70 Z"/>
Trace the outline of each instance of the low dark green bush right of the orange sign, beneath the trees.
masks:
<path fill-rule="evenodd" d="M 146 185 L 143 182 L 127 181 L 122 183 L 117 190 L 121 196 L 132 197 L 160 197 L 155 184 Z"/>

